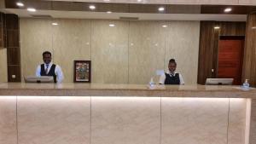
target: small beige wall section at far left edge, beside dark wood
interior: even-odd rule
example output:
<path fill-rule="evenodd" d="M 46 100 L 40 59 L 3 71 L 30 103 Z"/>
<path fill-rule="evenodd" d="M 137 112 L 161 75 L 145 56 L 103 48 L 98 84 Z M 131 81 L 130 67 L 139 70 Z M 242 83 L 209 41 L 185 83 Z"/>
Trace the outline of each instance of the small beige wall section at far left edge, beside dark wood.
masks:
<path fill-rule="evenodd" d="M 0 48 L 0 82 L 7 81 L 7 49 Z"/>

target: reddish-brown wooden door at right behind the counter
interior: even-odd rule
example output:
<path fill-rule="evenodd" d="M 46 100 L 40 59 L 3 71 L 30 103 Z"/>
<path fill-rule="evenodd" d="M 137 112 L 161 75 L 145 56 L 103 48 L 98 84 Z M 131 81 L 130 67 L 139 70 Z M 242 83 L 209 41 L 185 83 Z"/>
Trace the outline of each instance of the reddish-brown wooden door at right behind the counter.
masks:
<path fill-rule="evenodd" d="M 218 78 L 234 78 L 241 84 L 244 37 L 220 37 L 218 42 Z"/>

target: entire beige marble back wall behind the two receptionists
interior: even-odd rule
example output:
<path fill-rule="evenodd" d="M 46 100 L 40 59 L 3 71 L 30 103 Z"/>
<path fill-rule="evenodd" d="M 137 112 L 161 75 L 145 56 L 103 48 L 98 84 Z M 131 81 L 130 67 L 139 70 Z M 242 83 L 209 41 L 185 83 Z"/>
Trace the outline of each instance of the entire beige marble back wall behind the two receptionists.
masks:
<path fill-rule="evenodd" d="M 34 75 L 48 49 L 64 82 L 73 82 L 73 60 L 91 60 L 92 83 L 147 84 L 151 77 L 158 82 L 155 71 L 173 57 L 185 84 L 196 84 L 199 32 L 199 21 L 21 18 L 21 72 Z"/>

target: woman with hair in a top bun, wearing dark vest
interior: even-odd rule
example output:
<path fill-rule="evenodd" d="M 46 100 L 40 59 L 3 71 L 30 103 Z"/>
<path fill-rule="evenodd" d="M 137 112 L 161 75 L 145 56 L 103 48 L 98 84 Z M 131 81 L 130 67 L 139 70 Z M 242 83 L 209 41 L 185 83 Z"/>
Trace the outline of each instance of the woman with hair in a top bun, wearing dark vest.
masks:
<path fill-rule="evenodd" d="M 174 59 L 169 60 L 169 71 L 160 76 L 160 84 L 184 84 L 183 77 L 180 73 L 175 72 L 177 63 Z"/>

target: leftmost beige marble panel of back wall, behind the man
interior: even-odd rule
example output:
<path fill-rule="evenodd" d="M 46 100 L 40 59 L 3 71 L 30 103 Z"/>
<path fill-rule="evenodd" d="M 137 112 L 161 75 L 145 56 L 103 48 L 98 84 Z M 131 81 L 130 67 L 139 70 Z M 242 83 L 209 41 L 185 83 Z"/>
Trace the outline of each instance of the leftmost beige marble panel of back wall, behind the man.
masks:
<path fill-rule="evenodd" d="M 20 19 L 21 77 L 35 75 L 37 66 L 44 62 L 43 52 L 53 52 L 51 22 L 50 19 Z"/>

